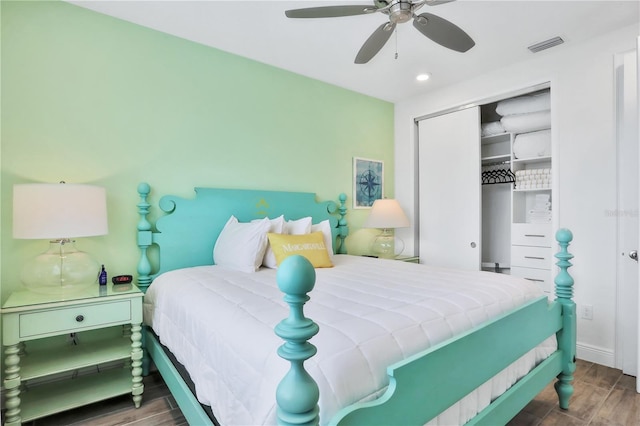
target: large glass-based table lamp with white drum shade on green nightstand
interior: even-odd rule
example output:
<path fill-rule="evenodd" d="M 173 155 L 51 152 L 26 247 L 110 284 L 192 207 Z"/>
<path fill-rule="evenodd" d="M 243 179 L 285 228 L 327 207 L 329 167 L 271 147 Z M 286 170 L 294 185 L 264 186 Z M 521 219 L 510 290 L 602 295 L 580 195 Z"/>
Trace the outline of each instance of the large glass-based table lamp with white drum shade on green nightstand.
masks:
<path fill-rule="evenodd" d="M 104 188 L 83 184 L 13 186 L 13 237 L 49 239 L 49 250 L 27 262 L 23 285 L 38 293 L 75 291 L 96 283 L 100 265 L 72 238 L 105 235 Z"/>

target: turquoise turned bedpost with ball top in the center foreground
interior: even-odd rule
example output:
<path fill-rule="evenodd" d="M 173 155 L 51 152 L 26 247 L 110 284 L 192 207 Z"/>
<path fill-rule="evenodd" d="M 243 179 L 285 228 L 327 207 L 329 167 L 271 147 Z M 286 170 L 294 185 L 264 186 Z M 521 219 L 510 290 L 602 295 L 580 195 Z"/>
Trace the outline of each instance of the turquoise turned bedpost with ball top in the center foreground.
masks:
<path fill-rule="evenodd" d="M 318 385 L 304 369 L 304 361 L 317 352 L 308 342 L 318 331 L 318 325 L 305 318 L 304 304 L 310 299 L 316 271 L 303 256 L 286 258 L 276 273 L 278 287 L 285 293 L 289 304 L 289 317 L 275 327 L 276 334 L 285 340 L 278 348 L 278 355 L 289 361 L 291 367 L 276 390 L 279 425 L 317 425 L 319 423 Z"/>

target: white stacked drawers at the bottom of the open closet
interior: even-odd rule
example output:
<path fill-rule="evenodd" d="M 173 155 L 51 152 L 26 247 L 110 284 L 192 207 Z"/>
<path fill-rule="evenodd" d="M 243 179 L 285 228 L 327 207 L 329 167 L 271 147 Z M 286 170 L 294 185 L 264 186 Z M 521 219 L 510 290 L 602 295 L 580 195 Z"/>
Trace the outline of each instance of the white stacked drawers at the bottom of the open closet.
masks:
<path fill-rule="evenodd" d="M 511 226 L 511 275 L 538 283 L 551 293 L 553 264 L 551 224 L 513 223 Z"/>

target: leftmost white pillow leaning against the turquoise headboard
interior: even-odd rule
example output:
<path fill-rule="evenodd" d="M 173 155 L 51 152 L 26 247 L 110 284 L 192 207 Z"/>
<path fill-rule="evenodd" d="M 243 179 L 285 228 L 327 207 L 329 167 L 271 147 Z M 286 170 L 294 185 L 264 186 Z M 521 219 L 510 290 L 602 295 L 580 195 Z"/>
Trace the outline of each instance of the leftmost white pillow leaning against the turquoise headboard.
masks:
<path fill-rule="evenodd" d="M 242 272 L 255 272 L 262 265 L 267 249 L 269 218 L 239 223 L 231 216 L 213 247 L 213 263 Z"/>

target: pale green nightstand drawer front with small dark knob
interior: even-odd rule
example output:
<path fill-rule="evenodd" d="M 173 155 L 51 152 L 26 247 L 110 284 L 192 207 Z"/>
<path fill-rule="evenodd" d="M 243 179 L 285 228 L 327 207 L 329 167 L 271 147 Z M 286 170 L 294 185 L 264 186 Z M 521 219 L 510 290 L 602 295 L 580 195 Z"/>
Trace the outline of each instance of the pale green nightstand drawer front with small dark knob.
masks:
<path fill-rule="evenodd" d="M 20 315 L 20 337 L 61 334 L 124 324 L 131 320 L 131 301 L 48 309 Z"/>

